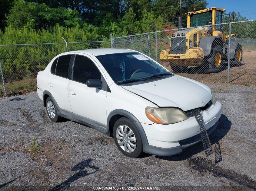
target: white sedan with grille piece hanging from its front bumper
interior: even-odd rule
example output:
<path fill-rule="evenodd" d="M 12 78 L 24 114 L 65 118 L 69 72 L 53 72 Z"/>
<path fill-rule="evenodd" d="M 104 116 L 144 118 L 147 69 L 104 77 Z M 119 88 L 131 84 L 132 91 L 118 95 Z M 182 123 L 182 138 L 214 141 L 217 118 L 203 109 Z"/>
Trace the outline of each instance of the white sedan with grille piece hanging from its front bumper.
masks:
<path fill-rule="evenodd" d="M 132 158 L 182 152 L 202 140 L 193 111 L 208 134 L 222 112 L 208 86 L 128 49 L 59 54 L 38 72 L 37 93 L 52 121 L 64 117 L 97 129 Z"/>

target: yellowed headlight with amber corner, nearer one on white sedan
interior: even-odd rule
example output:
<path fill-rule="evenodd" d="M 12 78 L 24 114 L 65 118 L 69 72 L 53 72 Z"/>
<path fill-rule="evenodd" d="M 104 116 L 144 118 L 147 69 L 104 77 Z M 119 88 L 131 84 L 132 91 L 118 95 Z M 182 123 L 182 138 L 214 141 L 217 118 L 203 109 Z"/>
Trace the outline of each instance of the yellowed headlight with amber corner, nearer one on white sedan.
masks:
<path fill-rule="evenodd" d="M 146 107 L 145 113 L 149 120 L 158 124 L 172 124 L 188 119 L 188 117 L 177 108 Z"/>

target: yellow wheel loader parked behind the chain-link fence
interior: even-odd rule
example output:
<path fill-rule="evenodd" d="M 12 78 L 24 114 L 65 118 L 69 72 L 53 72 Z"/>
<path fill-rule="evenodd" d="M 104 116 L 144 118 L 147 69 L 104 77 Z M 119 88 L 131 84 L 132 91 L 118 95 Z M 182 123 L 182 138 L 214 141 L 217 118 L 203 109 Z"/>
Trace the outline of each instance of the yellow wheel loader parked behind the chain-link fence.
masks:
<path fill-rule="evenodd" d="M 170 63 L 173 72 L 184 72 L 188 66 L 202 65 L 209 72 L 219 72 L 227 62 L 228 37 L 223 30 L 225 9 L 211 7 L 186 13 L 187 28 L 172 34 L 170 49 L 162 50 L 160 60 Z M 199 27 L 211 25 L 208 27 Z M 235 35 L 231 33 L 231 36 Z M 237 41 L 230 42 L 230 63 L 240 65 L 243 49 Z"/>

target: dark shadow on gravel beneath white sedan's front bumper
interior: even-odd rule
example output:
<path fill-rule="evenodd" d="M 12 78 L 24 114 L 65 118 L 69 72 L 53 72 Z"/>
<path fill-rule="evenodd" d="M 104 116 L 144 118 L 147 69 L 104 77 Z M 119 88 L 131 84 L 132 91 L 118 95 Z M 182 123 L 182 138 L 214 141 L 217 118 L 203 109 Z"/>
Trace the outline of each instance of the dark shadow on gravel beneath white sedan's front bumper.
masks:
<path fill-rule="evenodd" d="M 229 132 L 231 128 L 231 121 L 228 120 L 228 118 L 221 114 L 220 117 L 220 123 L 217 126 L 217 128 L 209 135 L 209 139 L 211 141 L 211 145 L 218 144 L 218 142 Z M 213 148 L 214 146 L 212 146 Z M 221 149 L 221 145 L 220 145 Z M 195 145 L 192 145 L 191 147 L 185 148 L 180 154 L 173 155 L 173 156 L 155 156 L 156 158 L 160 158 L 167 161 L 183 161 L 191 156 L 200 153 L 201 151 L 204 151 L 202 142 L 199 142 Z"/>

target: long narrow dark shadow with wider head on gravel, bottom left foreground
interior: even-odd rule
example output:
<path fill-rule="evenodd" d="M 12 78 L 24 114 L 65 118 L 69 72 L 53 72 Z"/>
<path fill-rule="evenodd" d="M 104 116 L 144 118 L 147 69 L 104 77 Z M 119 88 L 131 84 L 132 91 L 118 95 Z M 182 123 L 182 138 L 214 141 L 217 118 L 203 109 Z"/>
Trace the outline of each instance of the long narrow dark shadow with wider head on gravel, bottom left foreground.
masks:
<path fill-rule="evenodd" d="M 91 174 L 97 172 L 99 170 L 99 168 L 91 165 L 91 162 L 92 162 L 92 159 L 88 158 L 88 159 L 78 163 L 77 165 L 75 165 L 72 168 L 72 171 L 77 171 L 77 170 L 79 170 L 79 171 L 77 173 L 75 173 L 73 176 L 69 177 L 67 180 L 63 181 L 62 183 L 60 183 L 57 186 L 55 186 L 54 188 L 52 188 L 51 190 L 57 191 L 57 190 L 67 189 L 70 186 L 70 184 L 72 182 L 74 182 L 75 180 L 78 180 L 79 178 L 86 177 L 88 175 L 91 175 Z M 87 170 L 84 170 L 85 167 L 91 168 L 93 171 L 88 173 Z"/>

